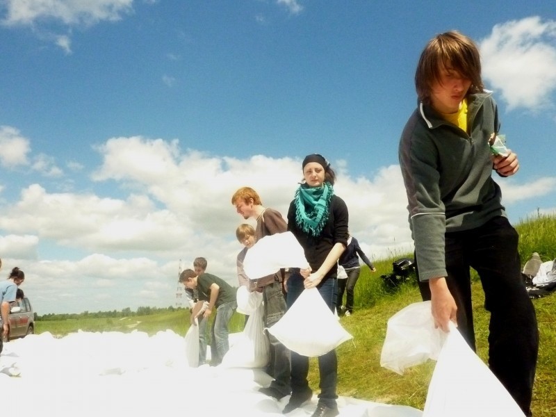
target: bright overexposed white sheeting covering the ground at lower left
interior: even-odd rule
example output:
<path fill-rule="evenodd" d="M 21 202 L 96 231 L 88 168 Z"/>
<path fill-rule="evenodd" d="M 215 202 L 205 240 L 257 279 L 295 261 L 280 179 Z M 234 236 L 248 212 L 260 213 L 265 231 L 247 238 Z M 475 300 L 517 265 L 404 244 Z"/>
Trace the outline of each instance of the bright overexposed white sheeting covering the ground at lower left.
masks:
<path fill-rule="evenodd" d="M 0 356 L 3 416 L 283 416 L 288 397 L 277 401 L 257 391 L 268 384 L 270 377 L 257 368 L 190 368 L 185 339 L 170 330 L 152 337 L 142 332 L 78 332 L 64 338 L 43 333 L 5 343 Z M 317 401 L 314 395 L 288 416 L 310 416 Z M 338 398 L 338 407 L 343 417 L 423 414 L 347 397 Z"/>

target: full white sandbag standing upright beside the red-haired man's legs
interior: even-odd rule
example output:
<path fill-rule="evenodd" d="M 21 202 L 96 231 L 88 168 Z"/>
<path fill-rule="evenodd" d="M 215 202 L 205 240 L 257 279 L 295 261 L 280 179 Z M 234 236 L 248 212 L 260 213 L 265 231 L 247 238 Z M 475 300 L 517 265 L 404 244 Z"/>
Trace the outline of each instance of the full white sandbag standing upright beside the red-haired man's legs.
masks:
<path fill-rule="evenodd" d="M 263 306 L 250 314 L 238 340 L 222 358 L 226 368 L 263 368 L 270 359 L 268 337 L 263 333 Z"/>

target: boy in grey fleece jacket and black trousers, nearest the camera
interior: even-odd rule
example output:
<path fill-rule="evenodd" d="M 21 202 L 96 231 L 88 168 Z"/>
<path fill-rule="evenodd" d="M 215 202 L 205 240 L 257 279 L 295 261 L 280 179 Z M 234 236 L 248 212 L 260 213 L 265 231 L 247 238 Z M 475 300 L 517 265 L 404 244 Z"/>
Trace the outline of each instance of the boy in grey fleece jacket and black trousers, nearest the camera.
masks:
<path fill-rule="evenodd" d="M 515 174 L 517 156 L 491 147 L 500 142 L 498 111 L 471 39 L 451 31 L 430 40 L 415 83 L 419 104 L 399 157 L 421 295 L 432 302 L 435 325 L 447 332 L 457 323 L 475 350 L 470 267 L 477 271 L 491 313 L 489 366 L 531 415 L 537 319 L 521 279 L 518 234 L 491 177 Z"/>

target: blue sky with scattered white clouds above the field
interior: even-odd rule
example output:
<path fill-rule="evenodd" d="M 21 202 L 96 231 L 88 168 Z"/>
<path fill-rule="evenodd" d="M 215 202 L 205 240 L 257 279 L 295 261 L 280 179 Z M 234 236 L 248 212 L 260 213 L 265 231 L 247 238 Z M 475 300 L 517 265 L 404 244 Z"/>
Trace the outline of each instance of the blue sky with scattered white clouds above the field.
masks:
<path fill-rule="evenodd" d="M 235 284 L 231 195 L 286 215 L 313 152 L 368 256 L 411 250 L 398 140 L 451 29 L 521 163 L 510 219 L 555 213 L 556 10 L 521 3 L 0 0 L 0 273 L 40 314 L 175 304 L 195 256 Z"/>

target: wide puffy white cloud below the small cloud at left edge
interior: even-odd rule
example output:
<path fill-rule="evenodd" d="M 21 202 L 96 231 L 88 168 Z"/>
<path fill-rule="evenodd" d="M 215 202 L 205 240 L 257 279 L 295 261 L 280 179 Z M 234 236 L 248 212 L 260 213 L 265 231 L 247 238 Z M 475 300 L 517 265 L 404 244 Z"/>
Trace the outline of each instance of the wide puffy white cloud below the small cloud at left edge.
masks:
<path fill-rule="evenodd" d="M 146 196 L 126 199 L 92 194 L 47 193 L 33 184 L 0 219 L 4 230 L 56 240 L 65 247 L 110 252 L 163 252 L 181 247 L 195 224 L 167 209 L 156 209 Z"/>

